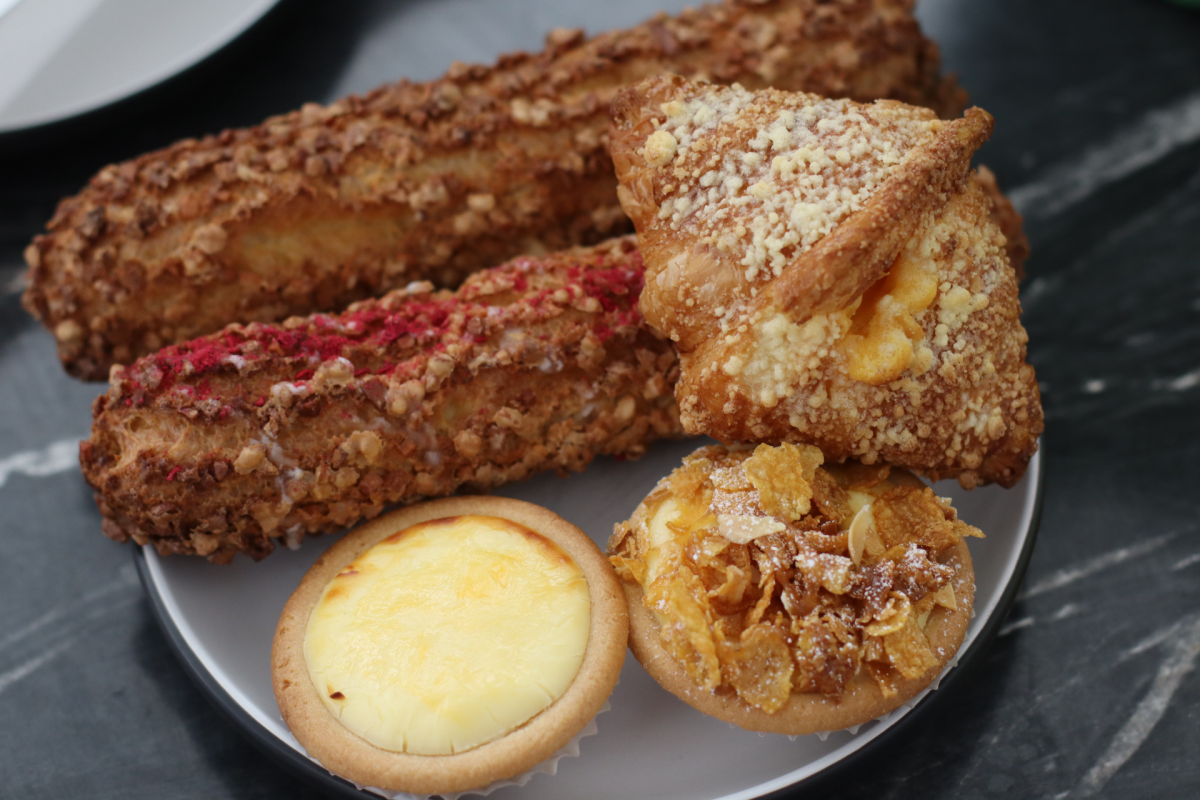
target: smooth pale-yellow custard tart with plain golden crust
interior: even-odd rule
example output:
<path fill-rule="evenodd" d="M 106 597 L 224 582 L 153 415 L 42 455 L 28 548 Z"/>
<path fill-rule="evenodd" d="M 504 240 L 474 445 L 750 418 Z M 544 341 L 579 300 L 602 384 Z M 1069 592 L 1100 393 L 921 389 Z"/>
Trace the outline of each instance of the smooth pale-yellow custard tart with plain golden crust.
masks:
<path fill-rule="evenodd" d="M 436 500 L 312 566 L 275 633 L 275 697 L 308 754 L 355 783 L 482 788 L 601 710 L 628 630 L 619 582 L 578 528 L 520 500 Z"/>

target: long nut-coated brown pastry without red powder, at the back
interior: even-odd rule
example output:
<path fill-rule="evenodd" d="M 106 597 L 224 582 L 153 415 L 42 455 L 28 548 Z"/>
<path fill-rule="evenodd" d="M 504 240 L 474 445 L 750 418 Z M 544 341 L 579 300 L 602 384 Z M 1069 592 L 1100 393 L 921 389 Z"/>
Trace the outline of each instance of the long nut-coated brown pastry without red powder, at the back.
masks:
<path fill-rule="evenodd" d="M 628 233 L 616 91 L 673 72 L 953 115 L 911 0 L 726 0 L 539 54 L 455 65 L 107 167 L 25 253 L 25 307 L 80 378 L 220 330 Z"/>

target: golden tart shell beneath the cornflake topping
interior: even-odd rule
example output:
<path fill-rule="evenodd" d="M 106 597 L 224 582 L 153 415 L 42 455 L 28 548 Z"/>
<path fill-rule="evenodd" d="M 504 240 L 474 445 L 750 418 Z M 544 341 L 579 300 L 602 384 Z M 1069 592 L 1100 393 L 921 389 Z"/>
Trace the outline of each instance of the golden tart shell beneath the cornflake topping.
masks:
<path fill-rule="evenodd" d="M 692 708 L 746 730 L 803 735 L 862 724 L 894 711 L 917 696 L 946 669 L 962 644 L 974 604 L 974 570 L 966 542 L 948 548 L 938 561 L 955 569 L 950 585 L 958 604 L 956 609 L 935 606 L 925 626 L 925 636 L 940 663 L 920 678 L 901 680 L 892 697 L 883 696 L 866 669 L 860 669 L 835 698 L 817 692 L 793 692 L 787 705 L 775 714 L 754 708 L 733 692 L 710 692 L 697 686 L 664 649 L 659 622 L 642 602 L 642 587 L 622 582 L 629 601 L 629 649 L 665 690 Z"/>

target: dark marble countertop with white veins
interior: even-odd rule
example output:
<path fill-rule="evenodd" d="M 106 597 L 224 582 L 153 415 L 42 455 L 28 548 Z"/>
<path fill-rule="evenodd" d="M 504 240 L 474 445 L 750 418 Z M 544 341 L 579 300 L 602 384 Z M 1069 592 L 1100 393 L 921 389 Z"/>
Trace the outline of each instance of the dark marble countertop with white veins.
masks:
<path fill-rule="evenodd" d="M 554 26 L 599 30 L 658 8 L 491 2 L 511 2 L 508 25 L 479 24 L 482 0 L 286 0 L 166 86 L 0 140 L 0 796 L 318 796 L 191 682 L 130 549 L 100 534 L 74 455 L 102 387 L 65 377 L 49 335 L 20 309 L 20 252 L 58 198 L 104 163 L 394 77 L 428 78 L 454 59 L 536 48 Z M 946 67 L 996 116 L 979 161 L 1026 216 L 1044 515 L 988 651 L 920 724 L 814 789 L 1198 796 L 1200 11 L 923 0 L 918 13 Z M 414 34 L 430 25 L 439 36 Z"/>

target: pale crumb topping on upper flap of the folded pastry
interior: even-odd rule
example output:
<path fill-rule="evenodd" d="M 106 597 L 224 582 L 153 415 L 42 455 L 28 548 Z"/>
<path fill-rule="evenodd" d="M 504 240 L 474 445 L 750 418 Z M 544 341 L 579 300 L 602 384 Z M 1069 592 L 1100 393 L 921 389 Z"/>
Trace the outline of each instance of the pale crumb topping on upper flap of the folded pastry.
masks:
<path fill-rule="evenodd" d="M 780 275 L 942 125 L 916 107 L 739 85 L 704 86 L 662 113 L 643 154 L 673 179 L 659 218 L 736 258 L 748 281 Z"/>

